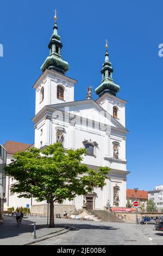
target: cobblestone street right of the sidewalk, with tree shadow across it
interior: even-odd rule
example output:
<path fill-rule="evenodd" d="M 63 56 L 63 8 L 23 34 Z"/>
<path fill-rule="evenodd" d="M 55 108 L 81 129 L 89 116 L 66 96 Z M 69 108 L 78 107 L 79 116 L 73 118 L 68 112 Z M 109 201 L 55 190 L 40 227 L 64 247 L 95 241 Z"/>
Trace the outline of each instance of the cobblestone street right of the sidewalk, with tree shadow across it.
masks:
<path fill-rule="evenodd" d="M 163 245 L 163 232 L 154 231 L 154 225 L 70 220 L 55 223 L 67 224 L 72 230 L 35 245 Z"/>

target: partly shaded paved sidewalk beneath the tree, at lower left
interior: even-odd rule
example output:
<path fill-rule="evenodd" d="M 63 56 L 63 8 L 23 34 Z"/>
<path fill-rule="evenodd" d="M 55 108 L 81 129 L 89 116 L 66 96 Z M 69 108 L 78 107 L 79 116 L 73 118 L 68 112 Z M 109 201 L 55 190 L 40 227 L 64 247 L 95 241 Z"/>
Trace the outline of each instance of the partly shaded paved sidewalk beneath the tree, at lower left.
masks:
<path fill-rule="evenodd" d="M 36 223 L 36 239 L 33 238 L 34 223 Z M 67 232 L 63 225 L 48 228 L 46 218 L 23 218 L 17 226 L 14 217 L 5 216 L 0 224 L 0 245 L 26 245 Z"/>

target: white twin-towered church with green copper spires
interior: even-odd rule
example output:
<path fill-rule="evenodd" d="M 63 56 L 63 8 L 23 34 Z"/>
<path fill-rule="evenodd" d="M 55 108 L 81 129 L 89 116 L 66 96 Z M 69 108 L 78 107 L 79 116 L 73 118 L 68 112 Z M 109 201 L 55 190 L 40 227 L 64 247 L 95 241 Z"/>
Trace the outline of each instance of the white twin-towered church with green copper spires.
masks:
<path fill-rule="evenodd" d="M 106 203 L 114 207 L 126 207 L 126 181 L 129 172 L 126 168 L 125 106 L 127 101 L 117 97 L 120 86 L 112 78 L 112 65 L 109 61 L 108 42 L 105 45 L 105 57 L 102 65 L 102 82 L 95 89 L 97 99 L 92 99 L 92 88 L 87 88 L 87 99 L 74 100 L 74 90 L 78 90 L 77 81 L 66 76 L 68 62 L 61 57 L 62 43 L 58 34 L 57 16 L 54 16 L 54 28 L 48 48 L 49 56 L 41 66 L 42 74 L 35 82 L 35 128 L 34 147 L 44 149 L 48 145 L 61 142 L 65 150 L 85 148 L 83 163 L 98 170 L 108 166 L 111 171 L 106 186 L 95 188 L 84 198 L 79 196 L 71 202 L 65 200 L 62 205 L 55 204 L 57 213 L 63 210 L 82 209 L 86 200 L 88 210 L 104 210 Z M 33 146 L 32 146 L 33 147 Z M 14 181 L 12 181 L 14 182 Z M 9 193 L 9 189 L 7 189 Z M 12 197 L 8 206 L 25 207 L 30 204 L 31 212 L 46 216 L 47 202 L 35 199 Z M 15 198 L 15 199 L 14 199 Z M 12 204 L 12 205 L 11 205 Z"/>

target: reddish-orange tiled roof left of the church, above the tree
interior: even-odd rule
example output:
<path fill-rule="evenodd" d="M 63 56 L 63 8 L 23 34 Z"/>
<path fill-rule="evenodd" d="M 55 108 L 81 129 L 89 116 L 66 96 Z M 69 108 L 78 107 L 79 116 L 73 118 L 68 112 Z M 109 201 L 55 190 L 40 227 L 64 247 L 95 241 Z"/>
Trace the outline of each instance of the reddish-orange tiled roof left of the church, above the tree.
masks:
<path fill-rule="evenodd" d="M 7 141 L 4 144 L 4 148 L 7 150 L 8 154 L 16 154 L 17 152 L 24 151 L 30 147 L 31 144 L 15 142 L 15 141 Z"/>

